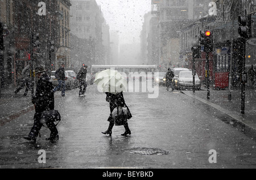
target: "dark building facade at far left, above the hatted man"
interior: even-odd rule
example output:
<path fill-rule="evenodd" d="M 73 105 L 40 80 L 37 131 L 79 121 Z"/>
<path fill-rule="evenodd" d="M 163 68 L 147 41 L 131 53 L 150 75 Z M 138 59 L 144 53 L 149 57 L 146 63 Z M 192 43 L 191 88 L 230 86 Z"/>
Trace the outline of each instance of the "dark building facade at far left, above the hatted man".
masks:
<path fill-rule="evenodd" d="M 32 62 L 51 70 L 57 39 L 57 1 L 0 1 L 5 28 L 2 87 L 17 85 L 21 71 Z M 53 50 L 50 50 L 50 43 Z"/>

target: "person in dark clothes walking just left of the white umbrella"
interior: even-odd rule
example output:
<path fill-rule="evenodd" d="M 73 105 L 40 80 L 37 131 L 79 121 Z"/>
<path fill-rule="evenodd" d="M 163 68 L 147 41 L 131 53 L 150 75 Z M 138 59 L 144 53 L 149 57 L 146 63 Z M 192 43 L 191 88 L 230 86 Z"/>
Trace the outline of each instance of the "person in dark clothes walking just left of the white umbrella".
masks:
<path fill-rule="evenodd" d="M 87 68 L 88 66 L 83 65 L 76 77 L 79 80 L 79 97 L 84 97 L 88 86 L 86 82 Z"/>

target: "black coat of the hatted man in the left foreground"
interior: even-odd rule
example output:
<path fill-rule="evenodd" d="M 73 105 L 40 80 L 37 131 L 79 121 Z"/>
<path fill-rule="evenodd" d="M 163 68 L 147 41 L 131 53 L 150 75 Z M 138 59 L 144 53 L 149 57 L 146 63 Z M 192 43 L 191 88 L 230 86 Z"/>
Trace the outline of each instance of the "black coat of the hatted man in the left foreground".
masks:
<path fill-rule="evenodd" d="M 54 110 L 53 85 L 49 79 L 49 76 L 44 73 L 36 86 L 35 96 L 32 98 L 36 113 Z"/>

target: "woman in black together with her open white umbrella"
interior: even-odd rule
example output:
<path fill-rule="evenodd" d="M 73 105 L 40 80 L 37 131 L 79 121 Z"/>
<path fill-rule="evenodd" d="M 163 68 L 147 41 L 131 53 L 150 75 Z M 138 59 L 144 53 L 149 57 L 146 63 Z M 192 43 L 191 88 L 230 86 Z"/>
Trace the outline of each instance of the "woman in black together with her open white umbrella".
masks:
<path fill-rule="evenodd" d="M 125 132 L 122 136 L 131 135 L 127 119 L 131 119 L 132 115 L 129 108 L 125 104 L 125 99 L 123 98 L 123 90 L 126 90 L 127 82 L 125 78 L 118 73 L 116 70 L 104 70 L 102 72 L 96 73 L 96 78 L 94 80 L 98 85 L 98 90 L 106 93 L 106 101 L 109 102 L 110 116 L 108 118 L 109 128 L 107 131 L 102 132 L 104 135 L 112 136 L 112 128 L 114 125 L 120 125 L 117 123 L 118 109 L 122 108 L 121 114 L 125 116 L 123 120 L 123 127 L 125 127 Z M 123 110 L 127 108 L 127 110 Z M 125 113 L 124 113 L 125 112 Z M 122 116 L 122 117 L 123 117 Z"/>

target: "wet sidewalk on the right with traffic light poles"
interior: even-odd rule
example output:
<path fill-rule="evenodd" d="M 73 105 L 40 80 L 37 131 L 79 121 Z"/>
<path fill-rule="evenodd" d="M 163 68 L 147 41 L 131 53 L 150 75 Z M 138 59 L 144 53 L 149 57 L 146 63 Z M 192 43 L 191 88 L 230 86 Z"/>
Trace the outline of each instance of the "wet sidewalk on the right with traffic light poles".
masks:
<path fill-rule="evenodd" d="M 228 90 L 210 89 L 210 99 L 207 99 L 207 90 L 181 91 L 181 93 L 195 98 L 209 106 L 216 108 L 232 118 L 233 125 L 237 123 L 243 128 L 243 132 L 256 134 L 256 89 L 246 88 L 245 90 L 245 114 L 241 114 L 241 90 L 232 90 L 232 100 L 228 99 Z"/>

